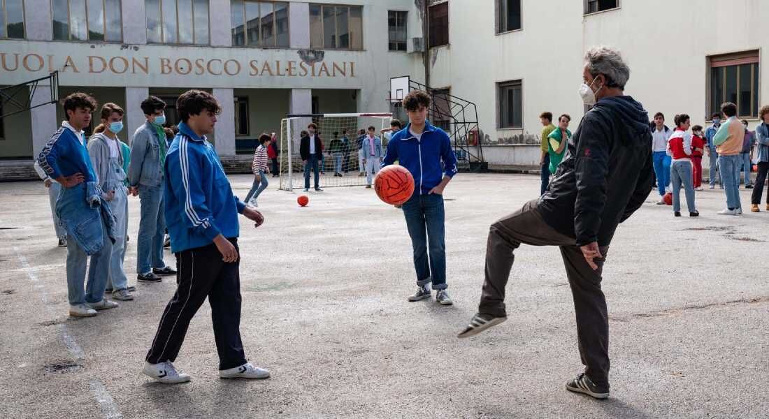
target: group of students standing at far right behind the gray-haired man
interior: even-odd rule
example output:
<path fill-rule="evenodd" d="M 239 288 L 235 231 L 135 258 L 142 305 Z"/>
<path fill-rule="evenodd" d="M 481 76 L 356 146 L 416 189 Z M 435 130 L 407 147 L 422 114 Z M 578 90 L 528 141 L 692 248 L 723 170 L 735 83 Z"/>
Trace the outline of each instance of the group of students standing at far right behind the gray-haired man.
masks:
<path fill-rule="evenodd" d="M 721 123 L 721 114 L 727 118 L 724 123 Z M 699 215 L 694 192 L 703 190 L 702 158 L 707 153 L 711 161 L 710 188 L 715 188 L 718 178 L 726 194 L 726 208 L 718 214 L 742 214 L 739 194 L 741 172 L 744 172 L 745 188 L 753 189 L 751 211 L 761 211 L 758 205 L 761 203 L 764 182 L 769 171 L 769 106 L 761 108 L 760 118 L 761 124 L 754 133 L 748 129 L 747 121 L 737 119 L 737 105 L 726 102 L 721 105 L 721 113 L 711 115 L 713 125 L 703 132 L 701 125 L 691 126 L 691 118 L 685 114 L 675 116 L 675 128 L 671 130 L 664 125 L 664 115 L 657 112 L 650 124 L 654 172 L 657 191 L 661 196 L 657 205 L 666 204 L 664 195 L 671 193 L 674 216 L 680 217 L 680 192 L 683 188 L 689 215 Z M 691 134 L 688 132 L 689 128 Z M 751 183 L 752 161 L 755 161 L 758 167 L 755 185 Z"/>

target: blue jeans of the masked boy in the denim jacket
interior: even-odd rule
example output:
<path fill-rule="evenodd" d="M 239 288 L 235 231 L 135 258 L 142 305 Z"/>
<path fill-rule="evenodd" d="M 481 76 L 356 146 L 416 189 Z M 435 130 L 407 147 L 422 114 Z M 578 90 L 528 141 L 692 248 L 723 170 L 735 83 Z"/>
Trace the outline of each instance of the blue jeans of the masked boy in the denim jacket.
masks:
<path fill-rule="evenodd" d="M 136 238 L 136 273 L 147 274 L 151 268 L 165 268 L 163 261 L 163 236 L 165 214 L 163 187 L 139 185 L 141 214 Z"/>

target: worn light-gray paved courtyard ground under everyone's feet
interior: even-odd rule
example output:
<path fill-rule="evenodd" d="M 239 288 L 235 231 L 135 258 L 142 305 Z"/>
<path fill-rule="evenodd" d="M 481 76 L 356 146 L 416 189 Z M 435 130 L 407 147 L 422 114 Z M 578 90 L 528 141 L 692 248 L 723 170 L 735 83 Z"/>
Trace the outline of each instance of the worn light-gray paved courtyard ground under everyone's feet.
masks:
<path fill-rule="evenodd" d="M 251 179 L 231 176 L 241 198 Z M 406 301 L 403 215 L 373 191 L 327 188 L 299 208 L 277 184 L 260 198 L 264 226 L 241 218 L 239 241 L 243 341 L 272 377 L 218 379 L 204 304 L 176 361 L 193 381 L 165 386 L 140 371 L 175 281 L 68 318 L 66 250 L 42 182 L 0 183 L 0 417 L 769 417 L 767 211 L 717 215 L 716 189 L 697 192 L 700 218 L 674 218 L 654 192 L 621 224 L 603 282 L 612 393 L 594 401 L 564 391 L 581 364 L 557 248 L 519 249 L 509 320 L 455 338 L 478 304 L 488 225 L 534 198 L 538 176 L 460 174 L 448 186 L 451 307 Z M 131 284 L 138 208 L 131 198 Z"/>

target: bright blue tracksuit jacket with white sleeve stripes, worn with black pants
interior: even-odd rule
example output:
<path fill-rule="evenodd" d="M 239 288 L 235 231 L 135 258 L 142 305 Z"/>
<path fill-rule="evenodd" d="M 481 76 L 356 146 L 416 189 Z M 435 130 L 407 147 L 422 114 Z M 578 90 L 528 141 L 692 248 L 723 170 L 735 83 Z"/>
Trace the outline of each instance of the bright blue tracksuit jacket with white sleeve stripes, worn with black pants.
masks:
<path fill-rule="evenodd" d="M 165 156 L 165 221 L 171 250 L 201 248 L 218 234 L 236 238 L 238 213 L 245 208 L 232 194 L 214 147 L 184 122 Z"/>

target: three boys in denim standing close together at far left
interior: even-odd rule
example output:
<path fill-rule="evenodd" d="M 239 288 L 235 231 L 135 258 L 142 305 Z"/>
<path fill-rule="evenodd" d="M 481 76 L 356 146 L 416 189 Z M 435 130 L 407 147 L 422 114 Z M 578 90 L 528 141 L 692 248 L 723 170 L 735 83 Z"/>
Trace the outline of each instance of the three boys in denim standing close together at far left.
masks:
<path fill-rule="evenodd" d="M 163 260 L 165 217 L 162 211 L 162 165 L 168 138 L 165 102 L 150 96 L 141 102 L 145 124 L 135 132 L 132 147 L 118 139 L 125 111 L 106 103 L 100 124 L 86 139 L 92 112 L 98 107 L 85 93 L 63 101 L 67 119 L 35 161 L 48 187 L 58 245 L 67 248 L 69 314 L 91 317 L 118 304 L 105 299 L 131 301 L 123 262 L 128 244 L 128 196 L 141 201 L 137 241 L 137 279 L 160 282 L 176 274 Z M 86 200 L 79 200 L 85 193 Z M 101 219 L 101 222 L 99 220 Z M 88 257 L 88 283 L 83 288 Z"/>

